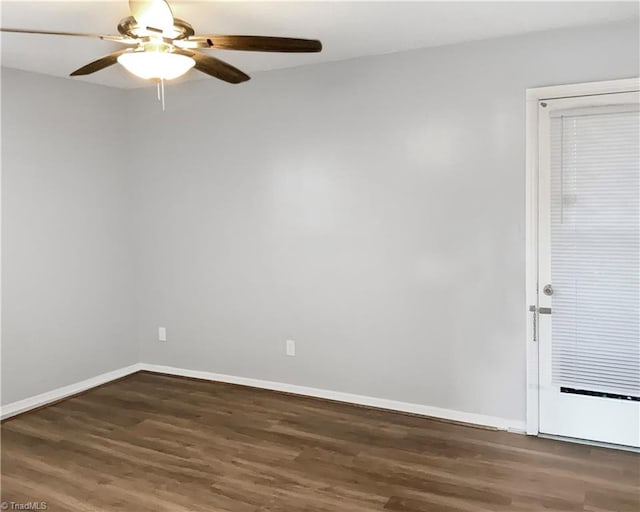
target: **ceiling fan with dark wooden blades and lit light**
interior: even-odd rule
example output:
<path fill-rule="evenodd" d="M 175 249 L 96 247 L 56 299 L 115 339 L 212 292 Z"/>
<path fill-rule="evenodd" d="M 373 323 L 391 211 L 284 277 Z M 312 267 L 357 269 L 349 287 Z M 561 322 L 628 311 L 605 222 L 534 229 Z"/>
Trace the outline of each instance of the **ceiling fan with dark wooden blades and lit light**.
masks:
<path fill-rule="evenodd" d="M 0 28 L 2 32 L 93 37 L 127 46 L 123 50 L 90 62 L 70 76 L 90 75 L 116 63 L 134 75 L 158 82 L 184 75 L 191 68 L 237 84 L 249 76 L 226 62 L 200 50 L 244 50 L 254 52 L 319 52 L 322 43 L 314 39 L 289 37 L 196 35 L 186 21 L 173 17 L 165 0 L 129 0 L 131 16 L 118 23 L 119 35 L 47 32 Z"/>

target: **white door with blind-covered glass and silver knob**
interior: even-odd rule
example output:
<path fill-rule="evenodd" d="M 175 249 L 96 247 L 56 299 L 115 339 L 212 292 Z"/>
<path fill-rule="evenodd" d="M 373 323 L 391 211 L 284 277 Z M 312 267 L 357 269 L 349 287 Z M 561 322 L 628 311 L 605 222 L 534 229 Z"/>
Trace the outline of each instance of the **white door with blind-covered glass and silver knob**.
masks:
<path fill-rule="evenodd" d="M 637 92 L 539 113 L 539 430 L 640 446 Z"/>

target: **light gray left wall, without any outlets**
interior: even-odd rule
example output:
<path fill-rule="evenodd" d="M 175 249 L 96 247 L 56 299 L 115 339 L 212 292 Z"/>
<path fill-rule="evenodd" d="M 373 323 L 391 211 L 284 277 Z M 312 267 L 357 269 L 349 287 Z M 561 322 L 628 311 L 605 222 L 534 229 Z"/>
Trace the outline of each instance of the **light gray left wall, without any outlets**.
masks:
<path fill-rule="evenodd" d="M 2 403 L 138 360 L 126 93 L 2 70 Z"/>

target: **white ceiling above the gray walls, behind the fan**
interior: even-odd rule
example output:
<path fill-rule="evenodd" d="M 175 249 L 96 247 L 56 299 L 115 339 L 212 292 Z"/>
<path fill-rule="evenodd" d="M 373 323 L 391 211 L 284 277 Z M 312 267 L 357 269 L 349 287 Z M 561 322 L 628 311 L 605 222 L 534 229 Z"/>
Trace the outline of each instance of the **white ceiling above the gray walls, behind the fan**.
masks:
<path fill-rule="evenodd" d="M 196 33 L 317 38 L 320 54 L 213 52 L 249 73 L 350 59 L 413 48 L 501 37 L 560 27 L 638 18 L 636 2 L 183 2 L 170 1 L 174 16 Z M 129 15 L 127 0 L 31 2 L 2 0 L 4 28 L 117 33 Z M 2 34 L 2 65 L 66 77 L 74 69 L 116 49 L 116 43 L 75 37 Z M 205 78 L 191 71 L 190 78 Z M 137 87 L 113 66 L 86 80 Z"/>

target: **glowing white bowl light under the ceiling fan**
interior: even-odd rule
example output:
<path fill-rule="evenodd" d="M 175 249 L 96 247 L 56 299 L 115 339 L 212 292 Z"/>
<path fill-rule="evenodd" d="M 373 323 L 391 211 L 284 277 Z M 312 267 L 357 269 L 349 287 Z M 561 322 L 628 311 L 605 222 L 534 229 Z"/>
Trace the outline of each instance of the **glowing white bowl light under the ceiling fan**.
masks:
<path fill-rule="evenodd" d="M 144 80 L 173 80 L 184 75 L 196 61 L 187 55 L 166 51 L 123 53 L 118 62 L 124 68 Z"/>

